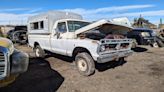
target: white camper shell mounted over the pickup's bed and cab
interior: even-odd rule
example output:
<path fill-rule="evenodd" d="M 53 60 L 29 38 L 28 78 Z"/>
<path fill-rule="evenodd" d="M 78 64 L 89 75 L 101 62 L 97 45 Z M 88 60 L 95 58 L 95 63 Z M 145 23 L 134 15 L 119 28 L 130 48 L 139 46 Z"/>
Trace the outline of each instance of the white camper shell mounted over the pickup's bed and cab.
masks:
<path fill-rule="evenodd" d="M 62 12 L 62 11 L 49 11 L 47 13 L 41 13 L 39 15 L 31 16 L 28 18 L 28 30 L 29 33 L 51 33 L 53 29 L 53 25 L 56 21 L 61 19 L 79 19 L 82 20 L 82 16 L 79 14 L 71 13 L 71 12 Z M 35 30 L 34 27 L 37 26 L 40 30 Z M 36 25 L 33 25 L 36 23 Z M 43 23 L 43 24 L 42 24 Z M 43 25 L 44 27 L 41 27 Z M 33 30 L 32 30 L 33 29 Z M 34 31 L 35 30 L 35 31 Z"/>

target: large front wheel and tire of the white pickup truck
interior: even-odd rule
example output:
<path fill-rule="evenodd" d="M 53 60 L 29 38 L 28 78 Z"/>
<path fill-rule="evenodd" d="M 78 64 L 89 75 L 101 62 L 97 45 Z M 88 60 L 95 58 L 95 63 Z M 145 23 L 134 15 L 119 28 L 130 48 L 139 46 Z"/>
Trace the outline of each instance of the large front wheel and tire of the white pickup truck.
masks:
<path fill-rule="evenodd" d="M 75 64 L 79 73 L 83 76 L 89 76 L 95 72 L 95 62 L 93 58 L 86 52 L 76 55 Z"/>

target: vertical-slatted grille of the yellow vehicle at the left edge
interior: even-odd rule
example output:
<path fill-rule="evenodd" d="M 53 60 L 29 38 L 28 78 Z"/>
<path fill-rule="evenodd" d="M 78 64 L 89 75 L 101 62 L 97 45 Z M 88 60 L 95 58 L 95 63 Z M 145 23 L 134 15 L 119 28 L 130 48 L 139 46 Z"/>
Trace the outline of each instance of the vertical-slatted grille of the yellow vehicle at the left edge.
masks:
<path fill-rule="evenodd" d="M 5 54 L 0 52 L 0 78 L 6 76 L 6 63 Z"/>

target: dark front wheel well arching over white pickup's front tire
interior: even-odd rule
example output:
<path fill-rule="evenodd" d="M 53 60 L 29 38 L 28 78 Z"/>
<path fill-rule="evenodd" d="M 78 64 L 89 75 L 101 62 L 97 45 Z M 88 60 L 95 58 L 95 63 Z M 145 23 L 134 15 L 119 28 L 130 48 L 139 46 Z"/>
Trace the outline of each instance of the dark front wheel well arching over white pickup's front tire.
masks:
<path fill-rule="evenodd" d="M 89 55 L 91 55 L 91 53 L 89 52 L 89 50 L 87 50 L 86 48 L 83 48 L 83 47 L 76 47 L 73 51 L 73 54 L 72 54 L 72 57 L 75 58 L 75 56 L 78 54 L 78 53 L 82 53 L 82 52 L 86 52 L 88 53 Z M 92 57 L 92 55 L 91 55 Z"/>

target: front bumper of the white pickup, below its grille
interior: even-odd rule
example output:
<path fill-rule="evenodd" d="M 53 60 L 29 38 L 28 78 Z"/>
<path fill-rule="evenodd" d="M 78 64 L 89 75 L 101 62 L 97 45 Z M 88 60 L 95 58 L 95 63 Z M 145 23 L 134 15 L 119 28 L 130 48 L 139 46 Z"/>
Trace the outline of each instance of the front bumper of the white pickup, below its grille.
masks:
<path fill-rule="evenodd" d="M 132 55 L 132 53 L 133 53 L 132 50 L 125 50 L 125 51 L 116 51 L 116 52 L 112 52 L 112 53 L 101 54 L 97 58 L 97 62 L 98 63 L 106 63 L 109 61 L 118 60 L 121 57 L 130 56 L 130 55 Z"/>

